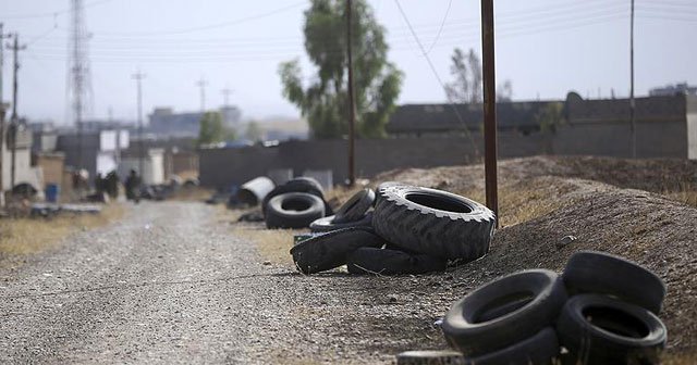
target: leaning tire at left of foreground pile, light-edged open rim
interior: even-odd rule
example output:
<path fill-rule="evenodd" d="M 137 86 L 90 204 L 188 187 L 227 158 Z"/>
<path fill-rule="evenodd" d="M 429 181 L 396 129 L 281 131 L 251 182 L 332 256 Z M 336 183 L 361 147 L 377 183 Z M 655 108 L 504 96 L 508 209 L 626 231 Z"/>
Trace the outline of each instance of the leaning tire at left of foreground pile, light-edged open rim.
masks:
<path fill-rule="evenodd" d="M 528 298 L 515 311 L 481 322 L 488 311 Z M 466 357 L 498 351 L 553 324 L 566 301 L 554 272 L 524 270 L 496 279 L 465 295 L 448 311 L 441 326 L 445 339 Z"/>

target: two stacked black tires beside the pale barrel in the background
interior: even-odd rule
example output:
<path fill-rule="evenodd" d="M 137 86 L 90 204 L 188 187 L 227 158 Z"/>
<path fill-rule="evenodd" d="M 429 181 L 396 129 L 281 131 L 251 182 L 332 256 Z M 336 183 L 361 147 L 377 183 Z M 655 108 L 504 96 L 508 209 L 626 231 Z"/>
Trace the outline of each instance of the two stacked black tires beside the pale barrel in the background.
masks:
<path fill-rule="evenodd" d="M 321 185 L 311 177 L 296 177 L 274 187 L 261 202 L 267 228 L 307 228 L 327 214 Z"/>

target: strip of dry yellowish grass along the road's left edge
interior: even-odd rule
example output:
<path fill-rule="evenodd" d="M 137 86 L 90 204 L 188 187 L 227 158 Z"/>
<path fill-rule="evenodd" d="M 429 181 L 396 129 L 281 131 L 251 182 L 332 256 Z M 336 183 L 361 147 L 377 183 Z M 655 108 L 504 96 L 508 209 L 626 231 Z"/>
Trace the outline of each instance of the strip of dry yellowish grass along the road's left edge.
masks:
<path fill-rule="evenodd" d="M 0 221 L 0 257 L 29 255 L 58 247 L 69 235 L 103 226 L 120 218 L 121 204 L 105 205 L 100 214 L 61 215 L 50 219 L 9 218 Z"/>

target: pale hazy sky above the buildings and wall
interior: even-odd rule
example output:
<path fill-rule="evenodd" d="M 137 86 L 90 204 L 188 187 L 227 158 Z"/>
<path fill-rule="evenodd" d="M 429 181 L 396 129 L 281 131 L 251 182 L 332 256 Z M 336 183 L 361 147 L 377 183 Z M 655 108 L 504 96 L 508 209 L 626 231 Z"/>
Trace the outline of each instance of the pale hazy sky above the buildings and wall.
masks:
<path fill-rule="evenodd" d="M 90 115 L 135 119 L 139 67 L 144 112 L 154 106 L 199 109 L 196 81 L 205 77 L 207 106 L 221 90 L 247 117 L 297 116 L 281 96 L 278 65 L 296 56 L 305 76 L 303 12 L 309 1 L 85 0 L 94 100 Z M 443 102 L 444 92 L 394 0 L 370 0 L 387 28 L 390 60 L 405 73 L 401 103 Z M 401 0 L 443 81 L 454 47 L 480 53 L 479 1 Z M 0 0 L 4 30 L 17 32 L 19 112 L 65 119 L 69 0 Z M 636 90 L 697 83 L 697 2 L 636 0 Z M 511 79 L 516 100 L 628 95 L 629 0 L 498 0 L 497 78 Z M 444 23 L 443 23 L 444 20 Z M 443 24 L 441 28 L 441 24 Z M 7 42 L 7 41 L 5 41 Z M 11 99 L 12 63 L 5 49 L 3 96 Z"/>

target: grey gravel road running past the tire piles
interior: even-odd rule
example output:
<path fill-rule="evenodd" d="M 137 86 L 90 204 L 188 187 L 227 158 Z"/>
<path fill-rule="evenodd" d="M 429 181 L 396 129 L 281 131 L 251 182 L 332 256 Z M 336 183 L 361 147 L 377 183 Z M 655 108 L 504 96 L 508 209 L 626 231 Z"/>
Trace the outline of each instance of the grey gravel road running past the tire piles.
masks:
<path fill-rule="evenodd" d="M 418 279 L 265 265 L 215 216 L 144 203 L 0 270 L 0 363 L 389 363 L 444 345 L 431 324 L 450 298 Z"/>

